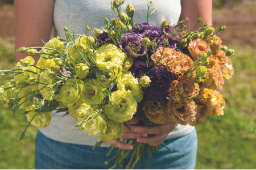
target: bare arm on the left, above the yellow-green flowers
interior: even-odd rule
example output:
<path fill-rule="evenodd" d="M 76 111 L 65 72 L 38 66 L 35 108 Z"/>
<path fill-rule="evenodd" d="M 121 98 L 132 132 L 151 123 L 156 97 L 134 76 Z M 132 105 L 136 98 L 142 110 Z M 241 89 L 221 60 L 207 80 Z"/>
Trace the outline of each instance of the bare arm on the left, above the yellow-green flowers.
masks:
<path fill-rule="evenodd" d="M 53 0 L 15 0 L 16 41 L 15 50 L 21 46 L 43 46 L 49 41 L 52 27 Z M 43 40 L 43 41 L 42 41 Z M 27 53 L 17 53 L 19 61 L 27 57 Z M 39 55 L 32 56 L 35 63 Z"/>

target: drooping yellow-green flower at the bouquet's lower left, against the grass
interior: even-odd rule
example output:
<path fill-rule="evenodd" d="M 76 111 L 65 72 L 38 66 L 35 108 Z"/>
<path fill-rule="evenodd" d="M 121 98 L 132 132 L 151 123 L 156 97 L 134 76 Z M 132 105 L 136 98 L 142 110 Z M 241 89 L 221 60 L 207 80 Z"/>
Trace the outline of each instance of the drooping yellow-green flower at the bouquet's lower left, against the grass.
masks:
<path fill-rule="evenodd" d="M 25 111 L 28 112 L 26 114 L 27 121 L 31 121 L 31 119 L 35 116 L 36 112 L 33 111 L 35 109 L 38 109 L 35 105 L 31 105 L 30 107 L 25 108 Z M 31 125 L 36 126 L 38 128 L 46 128 L 47 126 L 49 126 L 51 119 L 52 119 L 52 112 L 38 113 L 36 114 L 34 119 L 31 121 Z"/>

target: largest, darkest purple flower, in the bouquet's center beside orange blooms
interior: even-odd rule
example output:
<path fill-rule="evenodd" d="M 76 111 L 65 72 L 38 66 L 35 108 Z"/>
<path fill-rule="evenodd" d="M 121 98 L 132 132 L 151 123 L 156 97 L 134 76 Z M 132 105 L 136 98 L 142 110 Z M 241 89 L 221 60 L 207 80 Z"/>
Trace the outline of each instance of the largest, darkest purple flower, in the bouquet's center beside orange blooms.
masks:
<path fill-rule="evenodd" d="M 165 67 L 154 67 L 146 73 L 150 77 L 151 83 L 148 87 L 142 87 L 143 94 L 150 100 L 162 101 L 168 96 L 168 90 L 171 83 L 175 80 L 174 74 L 168 71 Z"/>

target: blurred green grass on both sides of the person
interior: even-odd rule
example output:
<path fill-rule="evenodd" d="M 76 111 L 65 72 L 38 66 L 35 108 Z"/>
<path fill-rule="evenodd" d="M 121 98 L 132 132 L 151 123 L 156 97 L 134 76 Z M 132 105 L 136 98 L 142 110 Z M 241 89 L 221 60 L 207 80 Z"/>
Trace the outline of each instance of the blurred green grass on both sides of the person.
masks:
<path fill-rule="evenodd" d="M 233 46 L 235 74 L 225 80 L 221 93 L 226 100 L 224 116 L 197 126 L 199 148 L 196 169 L 256 168 L 256 49 Z M 14 66 L 14 43 L 0 40 L 0 69 Z M 0 76 L 2 85 L 11 76 Z M 16 142 L 28 121 L 26 116 L 4 109 L 0 104 L 0 169 L 33 169 L 37 129 L 30 126 L 26 137 Z"/>

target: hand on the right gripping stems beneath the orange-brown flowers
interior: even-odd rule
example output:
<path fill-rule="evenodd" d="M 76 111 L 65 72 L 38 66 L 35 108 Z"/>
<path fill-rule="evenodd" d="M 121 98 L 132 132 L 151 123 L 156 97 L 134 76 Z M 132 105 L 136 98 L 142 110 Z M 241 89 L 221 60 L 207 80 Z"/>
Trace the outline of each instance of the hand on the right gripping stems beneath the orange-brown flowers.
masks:
<path fill-rule="evenodd" d="M 125 133 L 131 135 L 131 137 L 126 136 L 126 138 L 133 138 L 133 133 L 138 134 L 155 134 L 154 137 L 138 137 L 137 142 L 147 143 L 150 146 L 157 146 L 164 142 L 167 135 L 176 128 L 177 123 L 168 117 L 166 121 L 159 122 L 162 124 L 160 126 L 151 126 L 150 129 L 143 125 L 129 125 L 129 129 L 125 127 Z"/>

